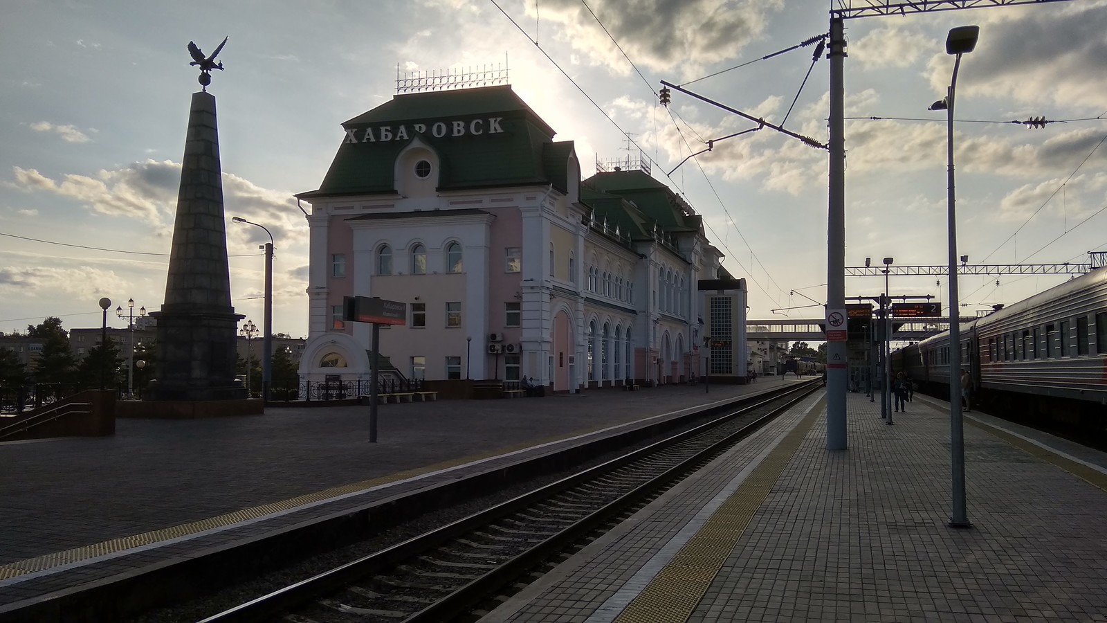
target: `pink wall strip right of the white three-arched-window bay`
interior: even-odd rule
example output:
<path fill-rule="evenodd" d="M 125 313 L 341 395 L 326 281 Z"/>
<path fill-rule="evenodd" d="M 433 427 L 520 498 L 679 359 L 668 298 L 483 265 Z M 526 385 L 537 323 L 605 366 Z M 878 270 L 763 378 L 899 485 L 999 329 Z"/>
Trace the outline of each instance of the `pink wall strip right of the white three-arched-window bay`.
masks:
<path fill-rule="evenodd" d="M 496 215 L 492 222 L 492 233 L 488 248 L 488 326 L 485 333 L 503 333 L 504 341 L 518 343 L 523 329 L 504 327 L 506 303 L 518 302 L 516 293 L 521 293 L 523 275 L 534 274 L 532 266 L 523 266 L 524 273 L 505 273 L 507 267 L 507 247 L 523 249 L 523 216 L 518 207 L 497 207 L 489 212 Z M 503 357 L 500 357 L 503 365 Z"/>

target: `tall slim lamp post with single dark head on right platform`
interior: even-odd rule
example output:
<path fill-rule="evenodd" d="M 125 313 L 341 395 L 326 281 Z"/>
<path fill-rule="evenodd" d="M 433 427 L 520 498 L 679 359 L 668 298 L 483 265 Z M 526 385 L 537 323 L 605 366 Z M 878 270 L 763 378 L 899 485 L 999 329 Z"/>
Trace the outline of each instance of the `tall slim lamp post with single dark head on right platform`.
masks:
<path fill-rule="evenodd" d="M 945 100 L 931 104 L 930 110 L 945 110 L 946 161 L 948 161 L 948 219 L 950 232 L 950 453 L 952 462 L 952 517 L 953 528 L 971 528 L 965 510 L 965 447 L 964 415 L 961 411 L 961 302 L 958 297 L 958 218 L 956 202 L 953 192 L 953 102 L 958 88 L 958 70 L 961 69 L 961 54 L 968 54 L 976 48 L 980 35 L 979 25 L 960 25 L 951 29 L 945 38 L 945 53 L 955 55 L 953 61 L 953 78 Z"/>

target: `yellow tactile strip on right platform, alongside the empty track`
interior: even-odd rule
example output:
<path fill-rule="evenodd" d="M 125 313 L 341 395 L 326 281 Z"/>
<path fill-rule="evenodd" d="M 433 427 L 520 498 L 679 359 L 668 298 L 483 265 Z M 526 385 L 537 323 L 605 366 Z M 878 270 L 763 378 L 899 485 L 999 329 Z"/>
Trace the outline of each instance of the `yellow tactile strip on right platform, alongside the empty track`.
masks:
<path fill-rule="evenodd" d="M 825 398 L 757 466 L 703 528 L 615 619 L 615 623 L 686 621 L 718 570 L 742 538 L 746 524 L 765 502 L 780 472 L 807 437 Z"/>

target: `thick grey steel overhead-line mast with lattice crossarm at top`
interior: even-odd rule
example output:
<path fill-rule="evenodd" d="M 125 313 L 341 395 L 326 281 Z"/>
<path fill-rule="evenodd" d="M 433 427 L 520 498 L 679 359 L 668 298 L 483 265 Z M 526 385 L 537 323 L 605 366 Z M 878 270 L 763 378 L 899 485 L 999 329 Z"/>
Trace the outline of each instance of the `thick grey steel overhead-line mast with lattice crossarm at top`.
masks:
<path fill-rule="evenodd" d="M 845 80 L 846 34 L 844 21 L 855 18 L 906 16 L 983 7 L 1041 4 L 1067 0 L 831 0 L 830 3 L 830 118 L 829 198 L 827 207 L 827 310 L 846 308 L 846 140 Z M 959 347 L 960 345 L 951 345 Z M 827 450 L 846 449 L 845 341 L 827 343 Z M 956 354 L 951 356 L 956 357 Z"/>

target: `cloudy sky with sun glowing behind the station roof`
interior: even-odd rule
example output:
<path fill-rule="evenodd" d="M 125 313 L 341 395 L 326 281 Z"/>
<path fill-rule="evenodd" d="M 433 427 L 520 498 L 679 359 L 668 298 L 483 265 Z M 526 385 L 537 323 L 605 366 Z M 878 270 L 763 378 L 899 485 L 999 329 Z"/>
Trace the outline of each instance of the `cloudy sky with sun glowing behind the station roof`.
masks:
<path fill-rule="evenodd" d="M 945 95 L 945 33 L 962 24 L 981 35 L 958 88 L 960 253 L 972 264 L 1054 264 L 1107 249 L 1105 9 L 1072 0 L 848 20 L 847 265 L 946 261 L 945 113 L 927 106 Z M 397 71 L 505 64 L 558 139 L 576 141 L 586 176 L 597 157 L 641 150 L 655 163 L 654 177 L 705 216 L 724 265 L 749 280 L 751 318 L 821 317 L 826 153 L 763 129 L 676 167 L 705 141 L 756 124 L 677 92 L 666 110 L 654 91 L 683 83 L 825 142 L 826 59 L 811 67 L 814 45 L 759 59 L 827 29 L 828 3 L 813 0 L 6 2 L 0 331 L 46 316 L 99 326 L 102 296 L 113 308 L 132 297 L 161 306 L 198 89 L 186 45 L 209 53 L 226 35 L 226 71 L 209 90 L 231 297 L 259 325 L 265 233 L 230 217 L 272 232 L 273 329 L 306 336 L 308 227 L 292 194 L 319 186 L 340 123 L 392 98 Z M 1031 116 L 1058 122 L 1003 123 Z M 962 314 L 1065 278 L 963 277 Z M 891 290 L 944 300 L 938 280 L 894 278 Z M 846 280 L 847 296 L 882 290 L 882 278 Z"/>

